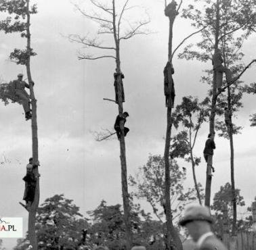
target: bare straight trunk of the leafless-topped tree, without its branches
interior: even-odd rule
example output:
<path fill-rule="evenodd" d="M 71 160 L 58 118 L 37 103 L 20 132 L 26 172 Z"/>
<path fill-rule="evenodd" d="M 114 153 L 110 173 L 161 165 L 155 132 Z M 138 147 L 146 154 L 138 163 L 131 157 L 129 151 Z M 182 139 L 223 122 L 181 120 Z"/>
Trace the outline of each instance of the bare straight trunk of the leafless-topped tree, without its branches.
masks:
<path fill-rule="evenodd" d="M 115 1 L 112 0 L 113 5 L 113 28 L 114 28 L 114 41 L 116 44 L 116 73 L 121 73 L 121 61 L 120 61 L 120 41 L 116 31 L 116 14 L 115 14 Z M 117 77 L 117 96 L 119 103 L 119 116 L 123 115 L 123 99 L 121 93 L 121 74 Z M 120 142 L 120 159 L 121 159 L 121 182 L 122 182 L 122 194 L 123 194 L 123 210 L 125 221 L 125 232 L 127 238 L 127 249 L 131 249 L 132 246 L 132 232 L 131 232 L 131 219 L 130 219 L 130 206 L 129 206 L 129 193 L 127 185 L 127 164 L 125 154 L 125 134 L 124 123 L 121 121 L 121 138 Z"/>

